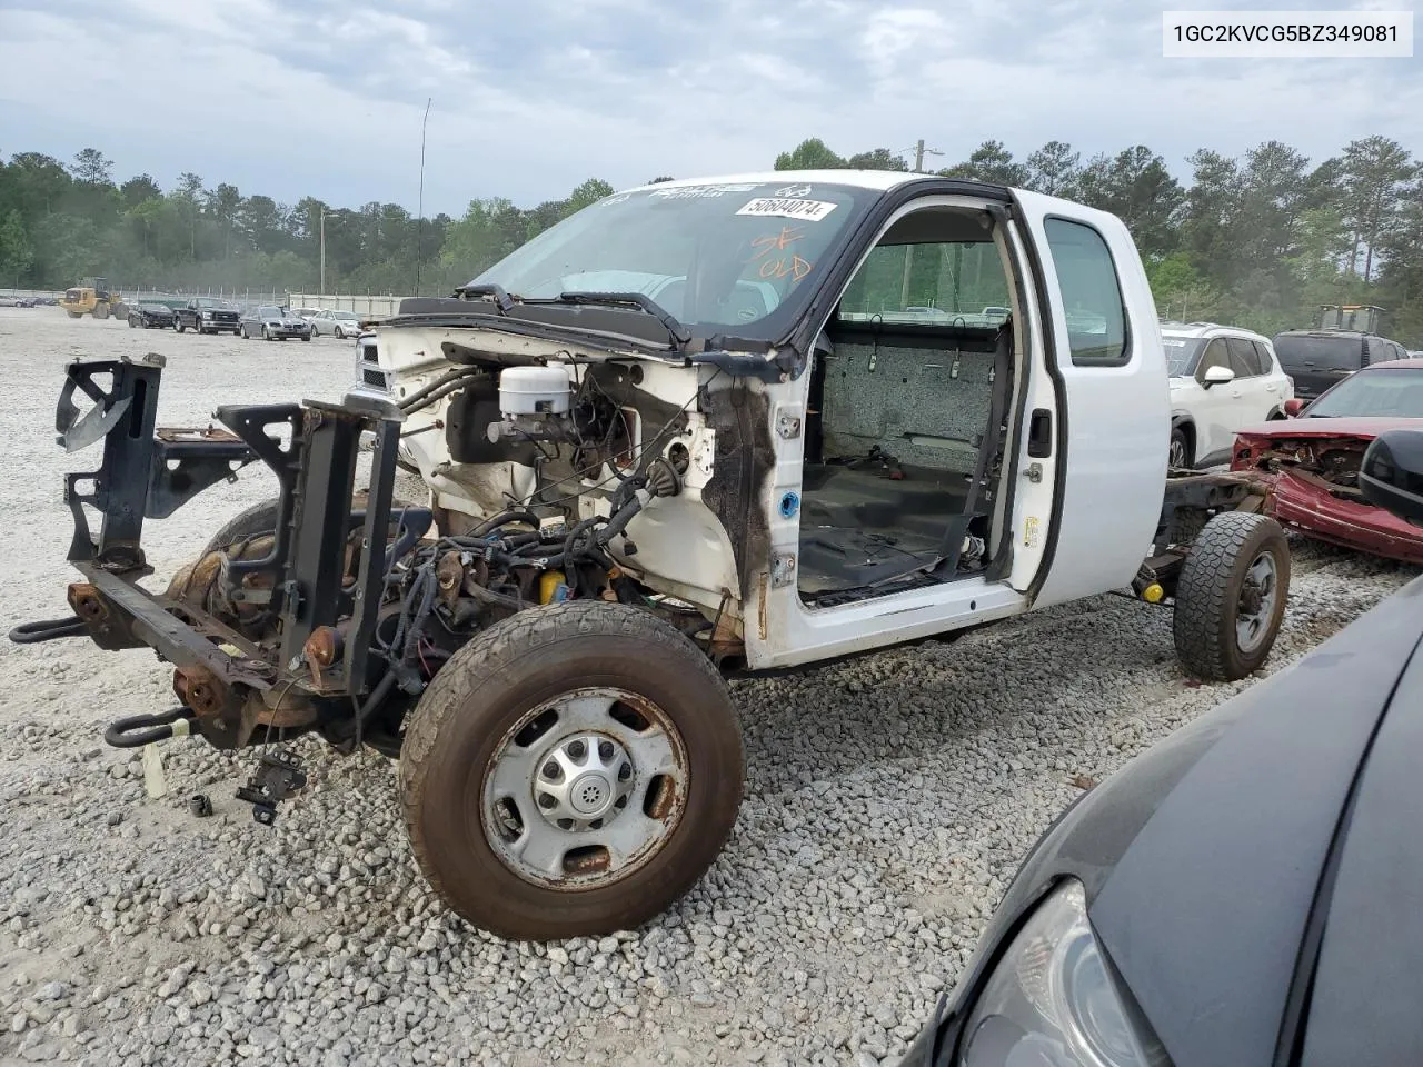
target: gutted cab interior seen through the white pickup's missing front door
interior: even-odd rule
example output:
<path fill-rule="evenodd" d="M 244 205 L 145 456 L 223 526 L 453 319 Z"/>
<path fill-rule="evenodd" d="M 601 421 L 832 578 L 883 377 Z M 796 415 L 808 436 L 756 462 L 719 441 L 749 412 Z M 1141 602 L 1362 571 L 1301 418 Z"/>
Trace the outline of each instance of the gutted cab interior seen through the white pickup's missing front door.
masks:
<path fill-rule="evenodd" d="M 988 562 L 1013 343 L 1002 263 L 979 215 L 902 219 L 825 327 L 801 482 L 798 572 L 807 602 L 951 580 Z M 889 245 L 895 230 L 916 242 L 912 253 Z M 887 263 L 874 262 L 881 252 Z M 887 313 L 874 306 L 877 267 L 894 290 Z M 945 292 L 945 275 L 961 292 Z M 988 283 L 973 289 L 973 277 L 985 275 Z M 999 432 L 989 432 L 995 421 Z"/>

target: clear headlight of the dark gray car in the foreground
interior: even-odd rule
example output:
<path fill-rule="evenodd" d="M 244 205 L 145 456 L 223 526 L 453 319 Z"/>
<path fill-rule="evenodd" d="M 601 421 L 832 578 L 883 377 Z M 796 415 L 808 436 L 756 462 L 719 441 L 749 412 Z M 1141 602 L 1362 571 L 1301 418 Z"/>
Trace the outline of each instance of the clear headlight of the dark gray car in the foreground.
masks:
<path fill-rule="evenodd" d="M 1081 883 L 1063 882 L 989 976 L 961 1067 L 1168 1067 L 1140 1010 L 1118 993 L 1087 922 Z"/>

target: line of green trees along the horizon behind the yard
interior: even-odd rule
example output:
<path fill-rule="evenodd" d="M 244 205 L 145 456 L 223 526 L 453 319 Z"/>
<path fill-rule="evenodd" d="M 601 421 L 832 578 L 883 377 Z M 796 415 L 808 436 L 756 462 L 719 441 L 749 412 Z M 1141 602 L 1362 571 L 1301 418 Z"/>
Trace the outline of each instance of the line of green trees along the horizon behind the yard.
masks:
<path fill-rule="evenodd" d="M 1144 145 L 1084 158 L 1050 141 L 1019 159 L 985 141 L 938 174 L 1121 216 L 1165 316 L 1271 334 L 1313 324 L 1319 304 L 1372 303 L 1389 309 L 1390 336 L 1423 347 L 1423 162 L 1403 145 L 1366 137 L 1312 161 L 1266 141 L 1238 158 L 1202 148 L 1187 164 L 1183 181 Z M 889 149 L 841 155 L 818 138 L 774 166 L 909 169 Z M 279 203 L 196 174 L 168 189 L 147 174 L 117 182 L 94 148 L 68 165 L 21 152 L 0 156 L 0 285 L 57 289 L 102 275 L 145 287 L 313 290 L 324 215 L 327 289 L 411 293 L 418 275 L 420 292 L 448 292 L 610 192 L 589 178 L 532 208 L 485 198 L 460 218 L 417 219 L 397 203 Z"/>

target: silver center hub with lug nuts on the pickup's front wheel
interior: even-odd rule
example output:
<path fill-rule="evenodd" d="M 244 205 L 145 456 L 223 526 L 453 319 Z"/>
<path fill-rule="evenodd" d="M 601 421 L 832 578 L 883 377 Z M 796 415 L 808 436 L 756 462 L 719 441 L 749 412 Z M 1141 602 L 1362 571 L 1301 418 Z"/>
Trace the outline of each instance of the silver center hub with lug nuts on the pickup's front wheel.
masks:
<path fill-rule="evenodd" d="M 628 807 L 633 782 L 632 757 L 619 741 L 578 733 L 544 753 L 534 778 L 534 804 L 559 829 L 602 829 Z"/>

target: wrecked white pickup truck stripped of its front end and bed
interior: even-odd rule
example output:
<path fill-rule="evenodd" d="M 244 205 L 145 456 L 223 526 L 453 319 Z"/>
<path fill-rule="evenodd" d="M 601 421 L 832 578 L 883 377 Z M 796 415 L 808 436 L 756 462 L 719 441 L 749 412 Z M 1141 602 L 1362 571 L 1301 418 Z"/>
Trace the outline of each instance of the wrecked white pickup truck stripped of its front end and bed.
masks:
<path fill-rule="evenodd" d="M 359 370 L 340 405 L 155 431 L 161 360 L 73 364 L 61 441 L 104 445 L 67 485 L 83 580 L 11 636 L 174 666 L 179 707 L 114 744 L 397 757 L 430 882 L 511 938 L 635 926 L 712 864 L 730 671 L 1130 586 L 1174 602 L 1190 671 L 1235 679 L 1285 609 L 1251 481 L 1167 469 L 1126 228 L 1064 201 L 848 171 L 632 189 L 406 300 Z M 253 461 L 272 502 L 142 589 L 144 518 Z M 400 465 L 428 499 L 393 501 Z M 269 821 L 300 780 L 277 744 L 242 795 Z"/>

